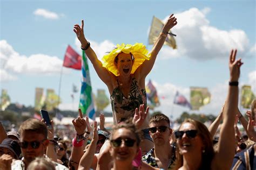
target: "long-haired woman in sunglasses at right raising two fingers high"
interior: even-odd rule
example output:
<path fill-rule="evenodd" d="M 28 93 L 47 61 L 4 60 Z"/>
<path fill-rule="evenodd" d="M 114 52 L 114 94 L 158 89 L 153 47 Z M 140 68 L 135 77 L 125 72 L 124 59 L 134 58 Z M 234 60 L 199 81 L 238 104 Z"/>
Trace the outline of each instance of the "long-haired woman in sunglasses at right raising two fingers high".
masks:
<path fill-rule="evenodd" d="M 238 107 L 238 79 L 241 59 L 235 60 L 237 50 L 231 51 L 229 68 L 230 82 L 223 109 L 218 148 L 214 152 L 212 136 L 207 127 L 194 119 L 181 123 L 177 138 L 177 162 L 175 169 L 230 169 L 234 158 L 234 122 Z"/>

